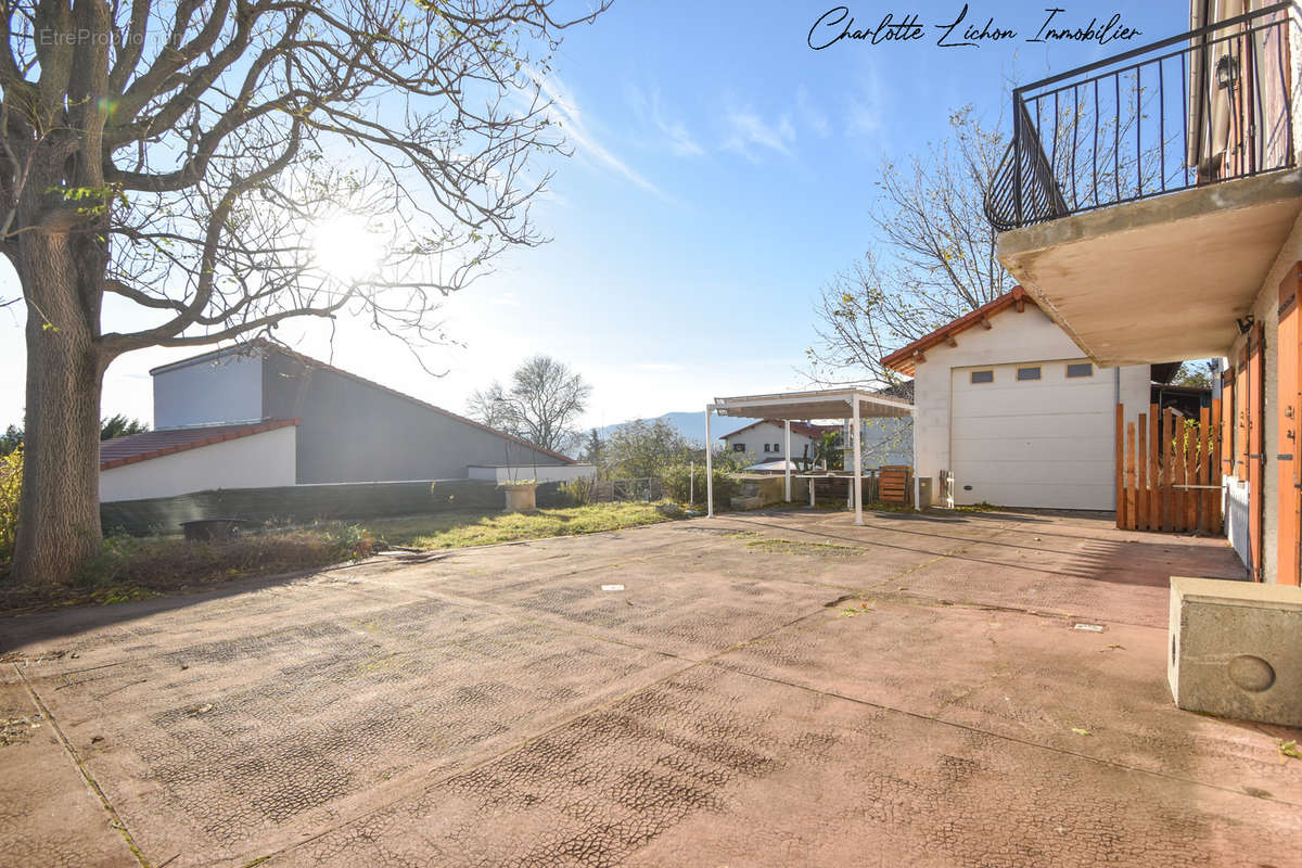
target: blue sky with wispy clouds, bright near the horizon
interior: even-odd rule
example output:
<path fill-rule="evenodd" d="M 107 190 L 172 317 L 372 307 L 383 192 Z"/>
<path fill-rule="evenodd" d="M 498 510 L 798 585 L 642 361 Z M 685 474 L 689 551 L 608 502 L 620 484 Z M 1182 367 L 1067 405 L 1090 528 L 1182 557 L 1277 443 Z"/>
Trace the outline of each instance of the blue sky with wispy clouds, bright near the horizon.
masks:
<path fill-rule="evenodd" d="M 974 3 L 967 22 L 1018 31 L 939 48 L 934 25 L 958 3 L 852 3 L 855 26 L 917 14 L 924 39 L 806 44 L 835 4 L 616 0 L 566 34 L 548 90 L 574 155 L 557 160 L 534 210 L 552 242 L 516 251 L 447 303 L 461 345 L 431 350 L 430 377 L 392 338 L 349 325 L 286 325 L 318 358 L 462 411 L 466 397 L 547 353 L 594 385 L 586 424 L 700 409 L 711 397 L 803 387 L 819 288 L 872 242 L 874 181 L 944 137 L 973 103 L 1008 120 L 1010 82 L 1027 82 L 1187 29 L 1187 3 Z M 1047 7 L 1085 26 L 1121 12 L 1125 43 L 1032 44 Z M 17 292 L 4 265 L 0 295 Z M 22 311 L 0 311 L 0 427 L 23 406 Z M 109 368 L 104 413 L 151 416 L 150 367 L 190 353 L 145 350 Z"/>

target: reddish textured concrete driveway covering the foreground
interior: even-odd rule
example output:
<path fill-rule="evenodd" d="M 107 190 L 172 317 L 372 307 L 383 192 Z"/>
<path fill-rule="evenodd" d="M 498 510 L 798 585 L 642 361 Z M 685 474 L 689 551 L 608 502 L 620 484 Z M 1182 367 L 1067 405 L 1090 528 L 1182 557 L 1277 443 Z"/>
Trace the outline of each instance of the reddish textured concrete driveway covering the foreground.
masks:
<path fill-rule="evenodd" d="M 1223 540 L 867 521 L 0 621 L 0 863 L 1302 865 L 1298 733 L 1165 686 L 1167 578 L 1242 575 Z"/>

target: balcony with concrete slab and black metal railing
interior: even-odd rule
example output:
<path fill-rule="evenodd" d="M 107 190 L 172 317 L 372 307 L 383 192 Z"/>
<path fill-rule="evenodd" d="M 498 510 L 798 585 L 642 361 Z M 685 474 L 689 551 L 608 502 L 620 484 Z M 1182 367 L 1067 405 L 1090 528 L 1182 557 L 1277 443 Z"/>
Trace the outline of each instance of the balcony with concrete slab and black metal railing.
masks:
<path fill-rule="evenodd" d="M 1101 364 L 1221 354 L 1302 211 L 1298 7 L 1013 91 L 999 258 Z"/>

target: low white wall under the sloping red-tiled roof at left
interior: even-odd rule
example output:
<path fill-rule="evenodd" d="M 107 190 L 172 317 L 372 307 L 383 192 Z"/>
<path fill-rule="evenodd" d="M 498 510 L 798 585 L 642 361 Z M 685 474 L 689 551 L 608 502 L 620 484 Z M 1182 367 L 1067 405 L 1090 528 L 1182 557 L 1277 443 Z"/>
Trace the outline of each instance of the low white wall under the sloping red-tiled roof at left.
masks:
<path fill-rule="evenodd" d="M 99 471 L 99 498 L 142 500 L 215 488 L 294 484 L 293 426 Z"/>

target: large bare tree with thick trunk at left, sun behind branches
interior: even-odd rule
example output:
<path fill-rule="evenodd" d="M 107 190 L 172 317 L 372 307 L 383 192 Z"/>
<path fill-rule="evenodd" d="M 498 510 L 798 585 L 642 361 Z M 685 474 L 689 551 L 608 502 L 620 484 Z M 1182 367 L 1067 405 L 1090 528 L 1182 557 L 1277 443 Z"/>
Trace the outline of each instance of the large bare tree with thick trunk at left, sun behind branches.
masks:
<path fill-rule="evenodd" d="M 27 310 L 18 575 L 68 580 L 99 545 L 118 355 L 340 315 L 439 342 L 443 297 L 542 241 L 547 178 L 526 165 L 562 147 L 540 77 L 575 23 L 551 0 L 0 8 L 0 250 Z M 107 298 L 134 331 L 103 328 Z"/>

